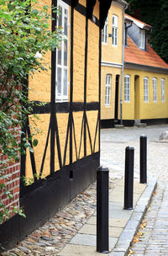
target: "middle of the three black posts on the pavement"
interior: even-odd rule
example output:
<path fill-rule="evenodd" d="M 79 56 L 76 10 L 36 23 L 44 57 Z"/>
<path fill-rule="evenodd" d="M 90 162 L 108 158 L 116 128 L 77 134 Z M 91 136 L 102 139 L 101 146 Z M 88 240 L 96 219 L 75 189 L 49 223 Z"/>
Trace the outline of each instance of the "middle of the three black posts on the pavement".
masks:
<path fill-rule="evenodd" d="M 125 148 L 125 186 L 124 206 L 125 210 L 133 209 L 134 192 L 134 147 Z"/>

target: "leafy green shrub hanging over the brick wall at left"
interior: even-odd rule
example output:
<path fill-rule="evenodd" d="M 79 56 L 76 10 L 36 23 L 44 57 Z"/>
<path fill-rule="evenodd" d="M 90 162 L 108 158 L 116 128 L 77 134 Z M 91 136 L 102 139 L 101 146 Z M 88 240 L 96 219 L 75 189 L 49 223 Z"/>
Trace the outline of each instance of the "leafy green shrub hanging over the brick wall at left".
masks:
<path fill-rule="evenodd" d="M 53 12 L 57 10 L 53 8 Z M 8 157 L 0 161 L 0 192 L 3 190 L 10 199 L 12 195 L 5 186 L 10 179 L 6 172 L 8 163 L 19 161 L 26 147 L 33 151 L 21 130 L 32 111 L 27 97 L 28 76 L 48 68 L 45 53 L 55 50 L 62 40 L 59 28 L 50 31 L 50 13 L 50 8 L 37 0 L 0 0 L 0 152 Z M 8 212 L 0 202 L 0 222 Z"/>

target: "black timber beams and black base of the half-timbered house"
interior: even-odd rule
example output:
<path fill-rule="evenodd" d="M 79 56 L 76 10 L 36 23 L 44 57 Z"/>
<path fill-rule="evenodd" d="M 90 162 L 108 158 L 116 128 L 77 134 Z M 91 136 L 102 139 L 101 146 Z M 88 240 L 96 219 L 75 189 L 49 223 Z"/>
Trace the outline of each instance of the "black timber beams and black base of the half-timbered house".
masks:
<path fill-rule="evenodd" d="M 74 10 L 81 13 L 86 17 L 86 35 L 88 32 L 88 19 L 90 19 L 95 25 L 100 26 L 100 22 L 97 17 L 92 15 L 92 10 L 96 1 L 87 0 L 87 8 L 78 3 L 77 0 L 64 0 L 65 3 L 68 3 L 71 8 L 71 39 L 73 39 L 73 14 Z M 111 1 L 110 1 L 111 2 Z M 101 6 L 102 1 L 100 2 Z M 57 1 L 52 0 L 52 4 L 57 6 Z M 89 6 L 90 5 L 90 6 Z M 107 4 L 104 4 L 107 9 L 104 9 L 105 16 L 108 13 Z M 102 13 L 102 11 L 101 11 Z M 55 18 L 55 13 L 52 13 Z M 100 14 L 101 19 L 101 28 L 103 19 L 105 16 Z M 52 30 L 55 29 L 55 21 L 52 22 Z M 77 194 L 79 194 L 84 189 L 87 189 L 89 184 L 96 179 L 97 167 L 100 164 L 100 152 L 95 152 L 96 147 L 96 138 L 97 132 L 100 135 L 100 93 L 101 93 L 101 43 L 102 43 L 102 30 L 99 32 L 99 102 L 87 103 L 87 38 L 86 38 L 86 58 L 85 58 L 85 93 L 84 93 L 84 102 L 73 102 L 73 50 L 71 50 L 71 95 L 70 102 L 66 103 L 55 103 L 55 77 L 56 77 L 56 55 L 55 51 L 51 52 L 51 95 L 50 103 L 45 105 L 35 104 L 32 114 L 50 114 L 50 124 L 48 133 L 45 141 L 45 150 L 42 157 L 42 163 L 40 166 L 40 175 L 43 173 L 46 150 L 49 145 L 50 140 L 50 175 L 46 179 L 37 179 L 34 184 L 29 186 L 22 186 L 20 190 L 20 205 L 24 206 L 24 211 L 26 218 L 22 216 L 15 215 L 9 221 L 5 221 L 0 225 L 0 241 L 4 248 L 11 248 L 15 243 L 23 239 L 29 232 L 34 231 L 37 227 L 44 224 L 45 221 L 49 220 L 51 216 L 55 215 L 55 212 L 59 211 L 64 205 L 69 203 Z M 71 47 L 73 43 L 71 40 Z M 97 125 L 95 131 L 94 141 L 91 140 L 91 133 L 89 131 L 89 125 L 87 121 L 87 111 L 97 110 Z M 72 136 L 74 136 L 75 150 L 76 150 L 76 133 L 75 125 L 73 120 L 73 112 L 82 111 L 84 113 L 83 119 L 81 121 L 81 137 L 83 130 L 87 136 L 91 145 L 90 156 L 87 156 L 87 145 L 85 150 L 85 157 L 80 159 L 80 151 L 76 152 L 76 161 L 72 163 Z M 64 152 L 60 152 L 60 137 L 59 129 L 57 124 L 57 113 L 69 113 L 68 127 L 66 132 L 66 146 Z M 28 127 L 29 117 L 27 121 L 27 127 L 24 127 L 24 132 L 30 134 Z M 84 124 L 85 123 L 85 124 Z M 71 134 L 71 136 L 69 136 Z M 71 140 L 70 146 L 70 164 L 66 165 L 66 150 L 67 150 L 67 141 Z M 99 137 L 100 138 L 100 137 Z M 93 142 L 93 143 L 92 143 Z M 55 143 L 57 146 L 60 169 L 55 170 Z M 86 143 L 86 141 L 85 141 Z M 81 146 L 80 146 L 81 147 Z M 100 150 L 100 140 L 99 140 L 99 150 Z M 61 153 L 63 153 L 63 163 L 61 161 Z M 78 153 L 78 155 L 77 155 Z M 34 153 L 30 156 L 33 173 L 36 174 Z M 25 176 L 25 161 L 26 156 L 22 157 L 22 167 L 21 174 Z M 73 172 L 73 177 L 70 175 L 70 171 Z M 34 177 L 35 178 L 35 177 Z"/>

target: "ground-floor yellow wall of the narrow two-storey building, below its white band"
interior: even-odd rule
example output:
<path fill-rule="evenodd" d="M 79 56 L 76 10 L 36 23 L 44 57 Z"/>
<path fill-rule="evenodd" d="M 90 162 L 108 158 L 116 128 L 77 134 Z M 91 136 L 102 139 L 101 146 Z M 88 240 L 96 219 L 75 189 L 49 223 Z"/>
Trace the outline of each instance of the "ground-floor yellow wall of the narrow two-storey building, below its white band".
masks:
<path fill-rule="evenodd" d="M 102 78 L 101 78 L 101 120 L 114 119 L 116 75 L 119 75 L 119 84 L 120 84 L 121 83 L 121 68 L 103 67 L 102 66 L 101 74 L 102 74 Z M 105 105 L 106 75 L 107 74 L 112 75 L 110 105 Z M 119 94 L 118 94 L 118 107 L 119 107 L 119 99 L 120 98 L 119 98 Z"/>

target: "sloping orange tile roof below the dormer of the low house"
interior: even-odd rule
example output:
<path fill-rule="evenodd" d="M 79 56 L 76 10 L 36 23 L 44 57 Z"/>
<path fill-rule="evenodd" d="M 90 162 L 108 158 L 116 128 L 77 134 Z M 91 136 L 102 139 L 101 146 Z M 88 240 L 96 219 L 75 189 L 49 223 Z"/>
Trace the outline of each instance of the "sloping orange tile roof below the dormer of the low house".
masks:
<path fill-rule="evenodd" d="M 125 47 L 124 51 L 125 62 L 168 69 L 168 65 L 157 55 L 150 45 L 147 45 L 147 51 L 141 51 L 129 36 L 128 46 Z"/>

